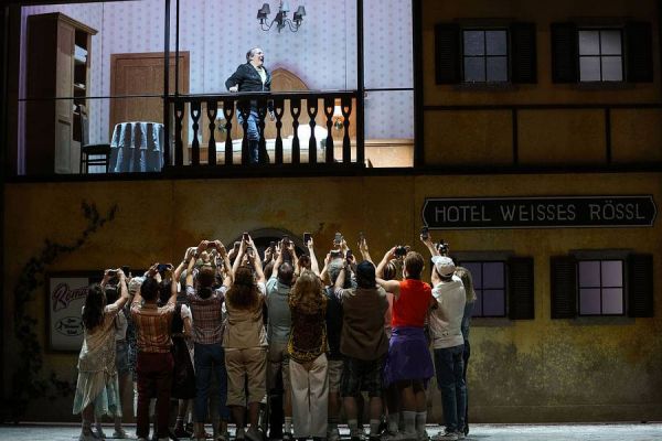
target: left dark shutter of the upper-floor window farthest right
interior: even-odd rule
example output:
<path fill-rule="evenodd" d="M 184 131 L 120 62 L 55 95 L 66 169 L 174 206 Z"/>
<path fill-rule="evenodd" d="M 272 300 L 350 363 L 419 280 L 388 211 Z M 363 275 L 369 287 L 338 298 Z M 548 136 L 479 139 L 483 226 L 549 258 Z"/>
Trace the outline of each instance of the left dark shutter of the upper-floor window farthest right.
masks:
<path fill-rule="evenodd" d="M 552 23 L 552 82 L 577 83 L 578 47 L 575 23 Z"/>

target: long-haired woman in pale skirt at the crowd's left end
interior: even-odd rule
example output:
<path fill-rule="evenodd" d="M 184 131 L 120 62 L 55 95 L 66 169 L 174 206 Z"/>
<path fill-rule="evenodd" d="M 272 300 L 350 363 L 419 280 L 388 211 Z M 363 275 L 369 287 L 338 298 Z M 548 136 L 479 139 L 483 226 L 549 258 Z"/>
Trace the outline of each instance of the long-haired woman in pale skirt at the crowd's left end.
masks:
<path fill-rule="evenodd" d="M 106 304 L 104 286 L 111 277 L 119 279 L 120 297 Z M 119 385 L 115 366 L 115 318 L 129 300 L 121 269 L 106 270 L 100 284 L 89 287 L 83 308 L 84 338 L 78 356 L 78 380 L 74 397 L 74 413 L 83 415 L 79 441 L 97 440 L 92 432 L 96 416 L 121 416 Z"/>

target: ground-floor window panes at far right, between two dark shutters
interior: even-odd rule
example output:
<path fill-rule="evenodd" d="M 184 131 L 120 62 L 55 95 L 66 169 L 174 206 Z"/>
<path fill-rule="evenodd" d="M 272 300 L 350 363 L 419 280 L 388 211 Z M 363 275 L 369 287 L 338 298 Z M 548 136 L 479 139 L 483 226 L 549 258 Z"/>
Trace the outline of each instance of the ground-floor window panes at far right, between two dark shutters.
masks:
<path fill-rule="evenodd" d="M 579 315 L 623 315 L 622 260 L 580 260 L 577 263 Z"/>

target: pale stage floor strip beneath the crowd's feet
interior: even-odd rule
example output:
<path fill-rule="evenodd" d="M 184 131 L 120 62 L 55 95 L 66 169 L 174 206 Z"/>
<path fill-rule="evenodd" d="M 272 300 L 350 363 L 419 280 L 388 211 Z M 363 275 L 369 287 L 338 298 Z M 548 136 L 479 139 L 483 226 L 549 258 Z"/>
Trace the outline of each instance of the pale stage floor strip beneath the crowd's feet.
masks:
<path fill-rule="evenodd" d="M 134 433 L 135 426 L 126 424 Z M 428 433 L 436 434 L 439 426 L 428 426 Z M 113 433 L 111 424 L 105 424 L 106 434 Z M 231 428 L 231 432 L 233 432 Z M 21 424 L 0 426 L 2 441 L 75 441 L 78 426 Z M 346 427 L 341 427 L 343 440 L 349 440 Z M 108 440 L 110 438 L 107 438 Z M 472 424 L 467 440 L 476 441 L 655 441 L 662 440 L 662 422 L 618 424 Z M 188 440 L 182 440 L 188 441 Z"/>

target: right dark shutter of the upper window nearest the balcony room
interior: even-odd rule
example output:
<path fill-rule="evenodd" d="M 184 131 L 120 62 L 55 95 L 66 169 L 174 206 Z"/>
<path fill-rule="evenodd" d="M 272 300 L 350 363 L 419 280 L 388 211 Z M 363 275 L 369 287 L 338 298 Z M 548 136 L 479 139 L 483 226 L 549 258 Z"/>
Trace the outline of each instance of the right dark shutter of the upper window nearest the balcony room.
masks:
<path fill-rule="evenodd" d="M 511 82 L 537 83 L 535 23 L 513 23 L 511 36 Z"/>

